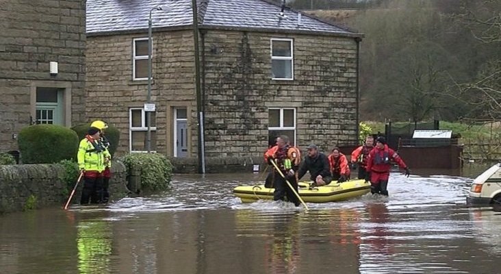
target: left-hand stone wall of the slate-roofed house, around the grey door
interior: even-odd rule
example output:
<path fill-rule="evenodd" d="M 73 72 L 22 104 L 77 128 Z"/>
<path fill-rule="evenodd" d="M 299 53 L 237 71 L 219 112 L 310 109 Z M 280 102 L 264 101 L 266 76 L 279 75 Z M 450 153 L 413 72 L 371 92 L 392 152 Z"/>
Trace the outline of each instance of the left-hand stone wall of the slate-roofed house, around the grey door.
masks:
<path fill-rule="evenodd" d="M 196 144 L 192 34 L 189 30 L 153 32 L 151 100 L 156 105 L 157 151 L 165 153 L 170 149 L 170 155 L 172 140 L 169 144 L 168 140 L 172 129 L 168 124 L 176 106 L 186 107 L 192 113 L 188 127 L 195 132 L 190 133 L 190 138 Z M 132 51 L 134 38 L 147 37 L 144 32 L 89 36 L 87 40 L 86 114 L 90 120 L 105 119 L 120 129 L 118 155 L 129 152 L 129 109 L 142 108 L 146 103 L 148 82 L 132 80 Z"/>

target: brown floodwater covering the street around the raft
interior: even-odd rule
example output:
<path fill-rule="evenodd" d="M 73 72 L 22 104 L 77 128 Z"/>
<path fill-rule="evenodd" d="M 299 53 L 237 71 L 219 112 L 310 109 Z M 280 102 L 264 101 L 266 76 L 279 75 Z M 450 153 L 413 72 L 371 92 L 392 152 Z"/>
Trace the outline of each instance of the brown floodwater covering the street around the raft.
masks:
<path fill-rule="evenodd" d="M 176 175 L 104 209 L 0 216 L 0 273 L 500 273 L 501 212 L 469 208 L 483 169 L 391 173 L 389 197 L 243 204 L 261 174 Z"/>

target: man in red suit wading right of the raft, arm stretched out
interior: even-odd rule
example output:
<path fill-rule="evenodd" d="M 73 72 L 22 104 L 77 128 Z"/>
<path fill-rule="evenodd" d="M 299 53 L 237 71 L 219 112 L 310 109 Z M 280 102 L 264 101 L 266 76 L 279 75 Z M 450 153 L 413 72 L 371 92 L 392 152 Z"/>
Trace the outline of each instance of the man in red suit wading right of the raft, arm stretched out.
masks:
<path fill-rule="evenodd" d="M 383 136 L 376 139 L 376 146 L 369 153 L 367 160 L 367 174 L 365 181 L 370 181 L 370 192 L 372 194 L 381 194 L 388 196 L 388 179 L 389 169 L 391 169 L 391 160 L 394 160 L 402 169 L 405 170 L 405 175 L 409 177 L 411 171 L 405 164 L 400 155 L 393 149 L 390 149 Z"/>

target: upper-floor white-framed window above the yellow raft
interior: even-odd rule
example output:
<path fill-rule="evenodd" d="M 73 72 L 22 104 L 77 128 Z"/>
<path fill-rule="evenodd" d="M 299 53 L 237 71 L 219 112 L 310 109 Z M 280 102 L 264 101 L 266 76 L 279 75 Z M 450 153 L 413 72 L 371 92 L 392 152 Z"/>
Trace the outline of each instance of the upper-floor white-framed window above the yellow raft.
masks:
<path fill-rule="evenodd" d="M 272 56 L 272 79 L 275 80 L 292 80 L 294 79 L 294 63 L 292 39 L 271 40 L 271 56 Z"/>

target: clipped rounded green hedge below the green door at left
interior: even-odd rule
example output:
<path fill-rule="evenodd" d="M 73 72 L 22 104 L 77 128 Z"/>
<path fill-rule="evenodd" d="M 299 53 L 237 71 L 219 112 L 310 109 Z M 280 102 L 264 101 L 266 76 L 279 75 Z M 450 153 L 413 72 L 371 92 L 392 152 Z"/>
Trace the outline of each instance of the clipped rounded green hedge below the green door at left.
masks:
<path fill-rule="evenodd" d="M 18 147 L 23 164 L 52 164 L 77 158 L 78 137 L 60 125 L 30 125 L 19 132 Z"/>

